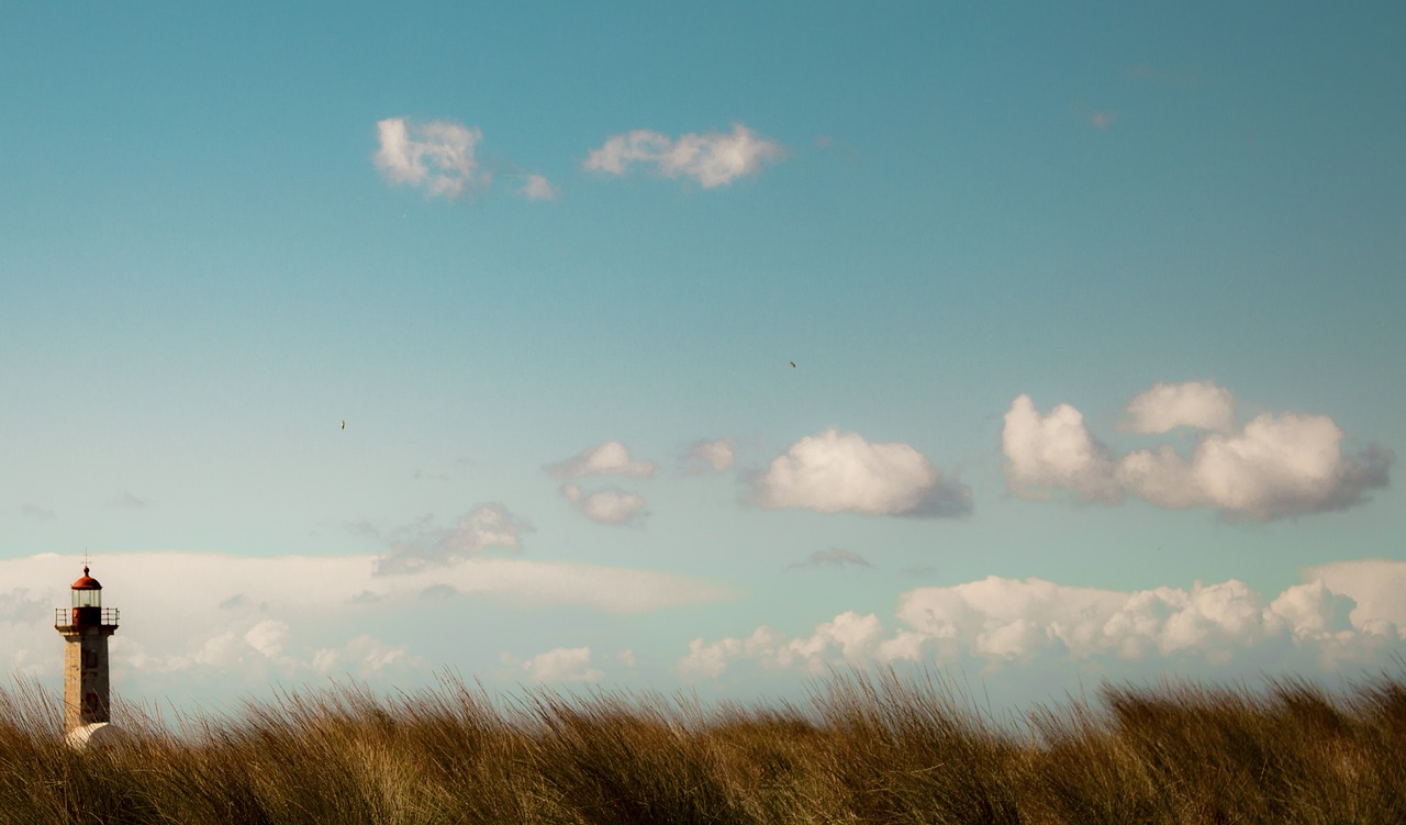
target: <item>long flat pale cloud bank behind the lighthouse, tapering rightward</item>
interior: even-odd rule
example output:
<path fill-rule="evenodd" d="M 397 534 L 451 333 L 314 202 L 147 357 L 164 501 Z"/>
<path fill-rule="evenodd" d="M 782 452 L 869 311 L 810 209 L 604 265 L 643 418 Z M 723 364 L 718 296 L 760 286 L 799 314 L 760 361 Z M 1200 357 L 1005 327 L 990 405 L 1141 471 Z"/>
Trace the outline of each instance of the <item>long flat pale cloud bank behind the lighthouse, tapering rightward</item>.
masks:
<path fill-rule="evenodd" d="M 385 576 L 374 572 L 375 562 L 370 554 L 94 559 L 104 604 L 121 610 L 114 679 L 160 693 L 173 684 L 262 689 L 344 673 L 394 682 L 412 672 L 427 676 L 430 665 L 411 645 L 381 638 L 432 610 L 426 600 L 491 597 L 522 609 L 637 616 L 733 596 L 710 582 L 630 568 L 470 558 Z M 77 557 L 55 554 L 0 561 L 0 638 L 11 672 L 58 677 L 63 654 L 53 609 L 69 604 L 82 566 Z"/>

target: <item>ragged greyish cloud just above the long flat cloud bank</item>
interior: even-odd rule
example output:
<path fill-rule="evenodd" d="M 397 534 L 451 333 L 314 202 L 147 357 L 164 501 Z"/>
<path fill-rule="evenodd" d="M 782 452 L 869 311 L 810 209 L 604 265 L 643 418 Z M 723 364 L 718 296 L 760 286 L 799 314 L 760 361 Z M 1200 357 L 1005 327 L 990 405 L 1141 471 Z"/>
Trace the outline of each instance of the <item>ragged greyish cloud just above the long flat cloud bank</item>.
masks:
<path fill-rule="evenodd" d="M 408 573 L 474 558 L 498 547 L 516 552 L 520 535 L 531 526 L 517 520 L 508 507 L 491 503 L 458 517 L 453 527 L 433 528 L 426 521 L 405 527 L 391 538 L 391 552 L 377 561 L 380 575 Z"/>

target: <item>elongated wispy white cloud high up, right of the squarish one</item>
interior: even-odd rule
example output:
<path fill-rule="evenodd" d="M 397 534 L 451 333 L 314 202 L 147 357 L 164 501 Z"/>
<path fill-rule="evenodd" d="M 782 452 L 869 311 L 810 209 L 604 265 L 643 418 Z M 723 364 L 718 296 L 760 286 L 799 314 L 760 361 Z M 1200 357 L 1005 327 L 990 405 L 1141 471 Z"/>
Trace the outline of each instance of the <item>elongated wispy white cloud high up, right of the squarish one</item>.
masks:
<path fill-rule="evenodd" d="M 703 188 L 728 184 L 744 174 L 756 174 L 762 164 L 776 160 L 783 149 L 775 141 L 759 138 L 742 124 L 733 132 L 689 132 L 679 138 L 636 129 L 613 135 L 591 150 L 585 167 L 607 174 L 624 174 L 631 166 L 652 167 L 664 177 L 688 177 Z"/>

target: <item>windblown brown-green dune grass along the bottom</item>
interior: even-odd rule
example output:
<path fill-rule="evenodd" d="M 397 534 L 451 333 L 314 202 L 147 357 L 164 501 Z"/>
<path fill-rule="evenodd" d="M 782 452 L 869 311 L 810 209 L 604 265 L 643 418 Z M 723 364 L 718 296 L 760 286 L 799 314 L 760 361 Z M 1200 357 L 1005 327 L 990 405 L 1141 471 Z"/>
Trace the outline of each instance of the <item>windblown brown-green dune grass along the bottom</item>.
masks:
<path fill-rule="evenodd" d="M 702 707 L 449 680 L 284 694 L 87 753 L 0 693 L 0 822 L 1406 822 L 1406 683 L 1105 687 L 995 724 L 943 683 L 841 675 Z"/>

